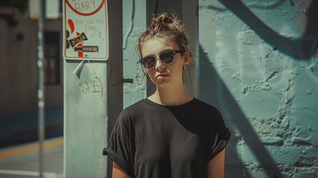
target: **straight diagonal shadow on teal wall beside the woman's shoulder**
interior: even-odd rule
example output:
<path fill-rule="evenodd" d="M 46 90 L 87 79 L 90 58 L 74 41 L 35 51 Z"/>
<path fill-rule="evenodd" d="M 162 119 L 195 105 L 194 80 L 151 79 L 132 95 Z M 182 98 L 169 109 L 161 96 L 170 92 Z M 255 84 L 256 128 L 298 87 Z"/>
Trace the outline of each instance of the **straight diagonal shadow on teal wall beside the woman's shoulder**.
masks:
<path fill-rule="evenodd" d="M 283 177 L 277 164 L 268 153 L 264 144 L 258 137 L 251 124 L 242 113 L 240 106 L 232 97 L 230 91 L 218 76 L 209 58 L 200 46 L 200 98 L 218 108 L 224 116 L 225 122 L 232 132 L 231 140 L 226 149 L 226 177 L 253 177 L 249 171 L 248 163 L 243 162 L 237 148 L 240 140 L 244 140 L 251 153 L 255 157 L 267 177 Z M 246 147 L 245 147 L 246 148 Z"/>

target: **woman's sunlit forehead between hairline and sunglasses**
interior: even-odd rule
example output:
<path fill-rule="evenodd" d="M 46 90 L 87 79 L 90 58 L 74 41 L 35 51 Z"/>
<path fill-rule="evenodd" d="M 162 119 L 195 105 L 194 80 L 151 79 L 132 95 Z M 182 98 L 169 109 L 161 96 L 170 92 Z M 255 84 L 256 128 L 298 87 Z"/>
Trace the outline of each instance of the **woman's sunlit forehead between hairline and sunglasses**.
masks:
<path fill-rule="evenodd" d="M 141 49 L 141 56 L 159 55 L 164 50 L 179 50 L 177 44 L 169 43 L 163 39 L 152 39 L 144 43 Z"/>

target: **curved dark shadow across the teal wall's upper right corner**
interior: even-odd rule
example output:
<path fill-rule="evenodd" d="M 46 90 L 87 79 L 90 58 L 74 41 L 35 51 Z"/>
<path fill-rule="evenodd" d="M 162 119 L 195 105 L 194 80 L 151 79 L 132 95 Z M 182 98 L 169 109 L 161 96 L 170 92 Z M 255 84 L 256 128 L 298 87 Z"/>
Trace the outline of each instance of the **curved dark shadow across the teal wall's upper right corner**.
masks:
<path fill-rule="evenodd" d="M 286 1 L 286 0 L 285 0 Z M 311 1 L 305 15 L 307 17 L 307 26 L 304 34 L 297 38 L 283 37 L 253 14 L 240 0 L 219 0 L 231 10 L 246 25 L 255 31 L 264 42 L 273 47 L 274 50 L 289 55 L 295 59 L 310 59 L 316 50 L 318 50 L 317 32 L 318 32 L 318 1 Z M 281 1 L 282 2 L 282 1 Z M 281 3 L 280 2 L 280 3 Z M 291 6 L 295 6 L 290 0 Z"/>

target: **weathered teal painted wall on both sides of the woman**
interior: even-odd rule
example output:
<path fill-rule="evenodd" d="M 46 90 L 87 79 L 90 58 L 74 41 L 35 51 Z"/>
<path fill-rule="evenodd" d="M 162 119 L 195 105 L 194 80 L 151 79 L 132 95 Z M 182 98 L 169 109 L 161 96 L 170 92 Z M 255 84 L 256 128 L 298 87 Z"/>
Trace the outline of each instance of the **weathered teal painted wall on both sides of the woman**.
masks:
<path fill-rule="evenodd" d="M 123 0 L 123 76 L 134 79 L 124 108 L 146 96 L 134 55 L 145 7 Z M 318 177 L 316 9 L 314 0 L 199 1 L 199 96 L 232 131 L 226 177 Z"/>

